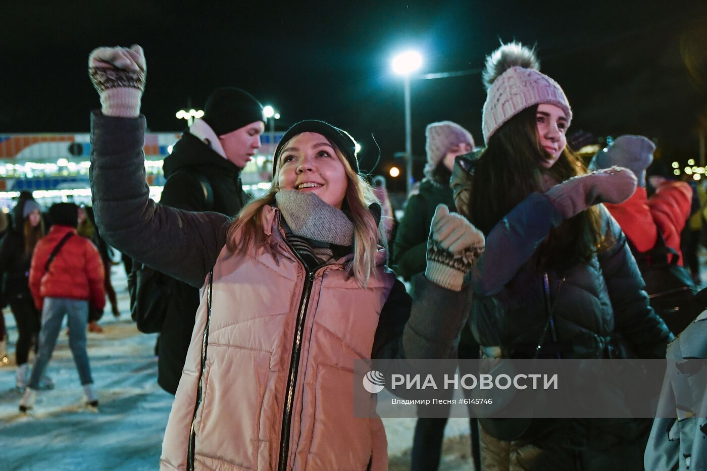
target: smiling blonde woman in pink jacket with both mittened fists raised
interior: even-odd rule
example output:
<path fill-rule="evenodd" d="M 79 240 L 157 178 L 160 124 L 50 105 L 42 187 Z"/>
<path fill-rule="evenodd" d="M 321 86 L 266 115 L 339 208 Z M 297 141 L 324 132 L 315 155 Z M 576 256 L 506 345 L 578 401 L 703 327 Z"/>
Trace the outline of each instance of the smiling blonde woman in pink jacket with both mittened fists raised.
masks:
<path fill-rule="evenodd" d="M 271 189 L 234 220 L 162 207 L 145 184 L 145 70 L 139 46 L 91 54 L 90 178 L 106 240 L 204 287 L 160 467 L 386 470 L 382 422 L 353 417 L 354 360 L 451 356 L 483 236 L 438 208 L 412 301 L 387 268 L 354 139 L 316 120 L 286 132 Z"/>

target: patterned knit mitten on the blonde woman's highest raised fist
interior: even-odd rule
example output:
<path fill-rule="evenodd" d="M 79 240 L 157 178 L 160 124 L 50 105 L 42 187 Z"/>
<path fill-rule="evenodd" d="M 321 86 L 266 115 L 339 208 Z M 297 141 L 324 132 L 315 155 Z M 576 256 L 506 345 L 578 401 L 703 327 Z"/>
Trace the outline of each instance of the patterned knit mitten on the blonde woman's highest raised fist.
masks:
<path fill-rule="evenodd" d="M 98 47 L 88 56 L 88 75 L 106 116 L 138 117 L 147 65 L 142 47 Z"/>

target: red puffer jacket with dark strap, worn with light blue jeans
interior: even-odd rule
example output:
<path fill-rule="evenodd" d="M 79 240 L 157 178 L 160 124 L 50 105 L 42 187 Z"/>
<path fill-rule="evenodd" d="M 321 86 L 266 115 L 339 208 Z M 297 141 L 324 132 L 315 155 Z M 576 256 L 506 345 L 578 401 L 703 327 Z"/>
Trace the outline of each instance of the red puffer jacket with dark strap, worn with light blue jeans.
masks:
<path fill-rule="evenodd" d="M 59 249 L 54 261 L 45 266 L 49 255 L 66 233 L 74 233 Z M 76 229 L 54 225 L 35 247 L 30 267 L 30 291 L 37 309 L 42 310 L 44 298 L 86 299 L 92 308 L 105 306 L 103 262 L 95 245 L 78 236 Z"/>

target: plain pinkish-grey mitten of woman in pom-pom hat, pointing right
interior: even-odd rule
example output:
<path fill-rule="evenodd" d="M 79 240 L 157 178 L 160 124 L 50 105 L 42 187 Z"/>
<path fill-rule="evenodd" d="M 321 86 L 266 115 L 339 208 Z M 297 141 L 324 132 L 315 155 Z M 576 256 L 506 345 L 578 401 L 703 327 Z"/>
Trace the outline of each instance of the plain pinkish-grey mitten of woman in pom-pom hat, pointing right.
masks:
<path fill-rule="evenodd" d="M 636 191 L 631 170 L 612 167 L 573 177 L 551 187 L 545 195 L 567 219 L 598 203 L 622 203 Z"/>

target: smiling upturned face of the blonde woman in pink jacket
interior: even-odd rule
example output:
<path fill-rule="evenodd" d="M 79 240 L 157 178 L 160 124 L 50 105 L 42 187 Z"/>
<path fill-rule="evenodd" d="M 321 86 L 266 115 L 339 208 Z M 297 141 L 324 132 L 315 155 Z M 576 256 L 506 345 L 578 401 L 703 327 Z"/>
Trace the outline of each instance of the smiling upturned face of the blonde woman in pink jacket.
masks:
<path fill-rule="evenodd" d="M 277 164 L 280 190 L 312 192 L 341 209 L 346 197 L 346 168 L 329 140 L 316 132 L 297 134 L 281 151 Z"/>

